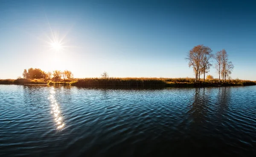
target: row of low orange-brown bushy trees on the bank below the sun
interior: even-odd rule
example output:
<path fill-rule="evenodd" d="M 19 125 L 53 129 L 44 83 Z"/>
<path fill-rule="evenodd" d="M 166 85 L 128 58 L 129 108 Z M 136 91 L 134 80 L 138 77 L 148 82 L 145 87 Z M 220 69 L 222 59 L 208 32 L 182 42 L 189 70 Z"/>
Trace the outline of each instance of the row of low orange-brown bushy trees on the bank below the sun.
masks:
<path fill-rule="evenodd" d="M 35 79 L 35 78 L 59 79 L 59 78 L 63 78 L 65 80 L 66 78 L 68 78 L 68 79 L 73 78 L 73 73 L 69 70 L 64 70 L 64 71 L 54 70 L 53 73 L 51 73 L 50 71 L 44 72 L 43 70 L 38 69 L 38 68 L 35 68 L 35 69 L 29 68 L 28 70 L 24 69 L 22 76 L 23 76 L 23 78 L 29 78 L 29 79 Z"/>

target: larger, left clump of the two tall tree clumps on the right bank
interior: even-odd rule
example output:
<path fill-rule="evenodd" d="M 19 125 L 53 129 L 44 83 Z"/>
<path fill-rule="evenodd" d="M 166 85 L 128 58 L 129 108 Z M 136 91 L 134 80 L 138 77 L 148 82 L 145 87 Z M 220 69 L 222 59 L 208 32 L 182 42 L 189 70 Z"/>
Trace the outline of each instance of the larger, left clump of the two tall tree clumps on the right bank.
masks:
<path fill-rule="evenodd" d="M 211 58 L 212 50 L 204 45 L 197 45 L 193 47 L 187 53 L 185 58 L 189 62 L 189 67 L 193 67 L 195 73 L 195 81 L 200 80 L 201 72 L 207 73 L 211 64 L 209 64 L 209 59 Z"/>

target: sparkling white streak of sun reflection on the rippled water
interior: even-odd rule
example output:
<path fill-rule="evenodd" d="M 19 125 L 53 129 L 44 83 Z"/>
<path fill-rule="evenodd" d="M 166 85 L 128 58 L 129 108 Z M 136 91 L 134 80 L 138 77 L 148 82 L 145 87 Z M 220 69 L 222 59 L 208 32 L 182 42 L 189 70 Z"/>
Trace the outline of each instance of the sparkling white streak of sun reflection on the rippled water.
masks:
<path fill-rule="evenodd" d="M 51 93 L 51 95 L 49 96 L 48 99 L 51 102 L 51 107 L 52 107 L 51 113 L 53 115 L 53 119 L 56 123 L 57 129 L 62 129 L 62 128 L 64 128 L 65 124 L 63 122 L 60 107 L 54 97 L 54 94 L 55 94 L 54 87 L 51 88 L 50 93 Z"/>

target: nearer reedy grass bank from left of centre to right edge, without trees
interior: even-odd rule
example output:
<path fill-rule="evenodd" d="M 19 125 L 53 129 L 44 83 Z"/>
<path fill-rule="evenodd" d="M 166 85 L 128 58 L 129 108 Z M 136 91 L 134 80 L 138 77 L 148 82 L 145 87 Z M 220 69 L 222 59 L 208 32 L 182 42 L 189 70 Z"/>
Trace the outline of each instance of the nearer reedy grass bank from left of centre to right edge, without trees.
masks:
<path fill-rule="evenodd" d="M 218 79 L 195 82 L 194 78 L 80 78 L 70 82 L 79 87 L 218 87 L 256 85 L 256 81 Z"/>

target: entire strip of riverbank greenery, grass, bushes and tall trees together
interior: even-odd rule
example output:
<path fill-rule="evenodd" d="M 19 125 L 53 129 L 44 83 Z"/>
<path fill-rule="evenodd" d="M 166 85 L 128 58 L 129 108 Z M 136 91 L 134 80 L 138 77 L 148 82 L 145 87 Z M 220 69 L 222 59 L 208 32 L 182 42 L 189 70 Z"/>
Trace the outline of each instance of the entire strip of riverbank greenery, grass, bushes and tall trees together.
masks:
<path fill-rule="evenodd" d="M 218 78 L 214 79 L 209 73 L 215 59 L 215 70 Z M 232 79 L 233 64 L 228 60 L 225 49 L 212 54 L 212 49 L 204 45 L 193 47 L 186 60 L 192 67 L 195 78 L 115 78 L 109 77 L 107 72 L 100 78 L 73 78 L 69 70 L 54 70 L 45 72 L 38 68 L 23 70 L 23 78 L 0 80 L 0 84 L 48 84 L 72 85 L 78 87 L 219 87 L 219 86 L 248 86 L 256 85 L 256 81 Z M 204 79 L 200 80 L 203 75 Z M 207 76 L 206 76 L 207 75 Z M 222 81 L 221 81 L 222 77 Z"/>

